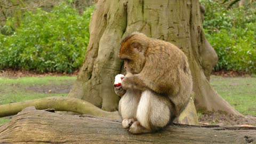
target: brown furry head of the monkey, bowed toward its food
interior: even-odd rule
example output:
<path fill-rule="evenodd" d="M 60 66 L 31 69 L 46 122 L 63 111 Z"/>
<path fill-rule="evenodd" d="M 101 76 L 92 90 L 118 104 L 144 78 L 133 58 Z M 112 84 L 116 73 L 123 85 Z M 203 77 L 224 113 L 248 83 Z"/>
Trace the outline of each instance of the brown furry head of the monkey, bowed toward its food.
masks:
<path fill-rule="evenodd" d="M 134 32 L 121 42 L 118 57 L 124 60 L 124 68 L 132 74 L 139 74 L 146 62 L 147 36 Z"/>

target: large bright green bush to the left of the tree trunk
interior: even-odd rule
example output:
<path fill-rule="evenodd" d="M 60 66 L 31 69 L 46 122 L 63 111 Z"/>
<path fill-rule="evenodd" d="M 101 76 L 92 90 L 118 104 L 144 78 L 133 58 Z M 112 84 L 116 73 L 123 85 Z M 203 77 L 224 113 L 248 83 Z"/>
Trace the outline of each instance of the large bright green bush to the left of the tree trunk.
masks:
<path fill-rule="evenodd" d="M 60 3 L 49 13 L 26 12 L 15 31 L 6 22 L 5 34 L 13 34 L 0 34 L 0 68 L 66 73 L 78 69 L 89 42 L 93 9 L 88 7 L 79 15 L 70 5 Z"/>

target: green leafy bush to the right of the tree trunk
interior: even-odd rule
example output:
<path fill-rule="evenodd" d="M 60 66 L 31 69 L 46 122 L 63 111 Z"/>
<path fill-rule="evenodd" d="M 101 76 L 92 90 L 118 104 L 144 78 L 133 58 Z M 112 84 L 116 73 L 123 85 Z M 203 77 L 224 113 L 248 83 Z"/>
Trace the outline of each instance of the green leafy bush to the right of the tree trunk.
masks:
<path fill-rule="evenodd" d="M 256 73 L 255 2 L 230 10 L 214 1 L 201 2 L 206 8 L 205 35 L 219 57 L 214 70 Z"/>

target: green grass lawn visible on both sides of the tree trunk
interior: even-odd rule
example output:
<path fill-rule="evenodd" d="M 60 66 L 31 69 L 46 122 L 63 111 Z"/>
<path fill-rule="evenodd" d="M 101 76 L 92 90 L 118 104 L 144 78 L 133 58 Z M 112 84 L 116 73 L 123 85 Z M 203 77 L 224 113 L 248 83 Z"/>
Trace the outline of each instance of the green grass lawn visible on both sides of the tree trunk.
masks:
<path fill-rule="evenodd" d="M 0 77 L 0 105 L 31 99 L 67 96 L 75 76 Z M 211 76 L 211 85 L 243 115 L 256 115 L 256 77 Z M 9 121 L 0 118 L 0 124 Z"/>

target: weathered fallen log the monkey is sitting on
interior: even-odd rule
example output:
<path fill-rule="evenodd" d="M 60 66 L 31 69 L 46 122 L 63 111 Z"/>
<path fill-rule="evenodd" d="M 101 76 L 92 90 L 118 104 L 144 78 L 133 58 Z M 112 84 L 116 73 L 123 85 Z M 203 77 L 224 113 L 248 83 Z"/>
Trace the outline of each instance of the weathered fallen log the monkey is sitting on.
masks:
<path fill-rule="evenodd" d="M 116 119 L 60 115 L 29 107 L 0 125 L 0 143 L 255 143 L 256 127 L 173 124 L 132 135 Z"/>

